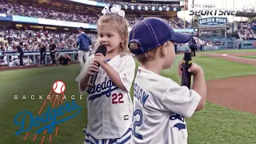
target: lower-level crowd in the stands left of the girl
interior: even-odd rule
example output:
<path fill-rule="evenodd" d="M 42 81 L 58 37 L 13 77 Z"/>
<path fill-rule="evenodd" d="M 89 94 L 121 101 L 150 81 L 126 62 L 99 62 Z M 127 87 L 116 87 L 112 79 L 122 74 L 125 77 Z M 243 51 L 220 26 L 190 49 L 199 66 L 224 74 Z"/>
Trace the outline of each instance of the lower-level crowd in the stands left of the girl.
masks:
<path fill-rule="evenodd" d="M 97 35 L 88 34 L 93 45 L 95 45 Z M 70 32 L 52 32 L 43 30 L 12 30 L 0 29 L 0 38 L 4 41 L 0 42 L 0 51 L 13 51 L 15 43 L 22 42 L 22 48 L 25 51 L 38 51 L 41 42 L 49 47 L 53 40 L 59 50 L 76 50 L 77 34 Z"/>

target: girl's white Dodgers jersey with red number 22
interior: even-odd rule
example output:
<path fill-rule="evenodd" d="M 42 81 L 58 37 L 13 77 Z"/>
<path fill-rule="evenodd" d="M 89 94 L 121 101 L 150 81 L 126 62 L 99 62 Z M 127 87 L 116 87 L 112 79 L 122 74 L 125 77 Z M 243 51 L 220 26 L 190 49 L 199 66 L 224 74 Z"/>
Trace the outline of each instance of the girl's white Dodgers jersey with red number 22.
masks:
<path fill-rule="evenodd" d="M 91 55 L 76 78 L 81 90 L 80 81 L 88 66 L 93 62 Z M 130 98 L 130 87 L 134 80 L 135 62 L 129 54 L 112 58 L 108 64 L 119 73 L 126 90 L 121 90 L 111 81 L 106 71 L 100 67 L 94 88 L 87 95 L 88 126 L 87 132 L 93 138 L 120 138 L 132 125 L 133 103 Z"/>

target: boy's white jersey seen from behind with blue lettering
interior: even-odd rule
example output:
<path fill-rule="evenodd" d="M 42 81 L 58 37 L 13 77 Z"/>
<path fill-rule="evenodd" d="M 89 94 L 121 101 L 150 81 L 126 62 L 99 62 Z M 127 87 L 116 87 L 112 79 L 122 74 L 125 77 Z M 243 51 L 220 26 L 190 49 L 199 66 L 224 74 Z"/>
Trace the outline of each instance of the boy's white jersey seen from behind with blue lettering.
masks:
<path fill-rule="evenodd" d="M 138 67 L 134 80 L 134 144 L 186 144 L 184 118 L 190 118 L 201 97 L 170 78 Z"/>

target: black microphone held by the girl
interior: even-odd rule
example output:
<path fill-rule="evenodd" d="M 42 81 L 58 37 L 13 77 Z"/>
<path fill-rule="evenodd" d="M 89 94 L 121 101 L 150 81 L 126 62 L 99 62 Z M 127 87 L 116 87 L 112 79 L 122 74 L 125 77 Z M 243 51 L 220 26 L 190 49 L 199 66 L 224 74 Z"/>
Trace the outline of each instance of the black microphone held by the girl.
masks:
<path fill-rule="evenodd" d="M 102 53 L 104 56 L 106 56 L 106 46 L 98 46 L 97 50 L 95 51 L 95 54 Z M 98 64 L 98 67 L 100 65 Z M 97 78 L 98 72 L 94 72 L 94 75 L 90 75 L 89 82 L 86 87 L 86 92 L 90 93 L 90 91 L 94 87 L 95 80 Z"/>

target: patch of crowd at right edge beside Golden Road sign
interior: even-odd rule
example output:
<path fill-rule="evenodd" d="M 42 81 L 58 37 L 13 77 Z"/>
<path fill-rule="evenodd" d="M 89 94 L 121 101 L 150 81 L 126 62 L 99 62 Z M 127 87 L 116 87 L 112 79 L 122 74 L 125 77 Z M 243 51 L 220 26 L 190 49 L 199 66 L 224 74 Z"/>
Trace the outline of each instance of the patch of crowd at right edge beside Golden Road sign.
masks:
<path fill-rule="evenodd" d="M 256 21 L 253 22 L 237 22 L 238 34 L 244 40 L 256 39 Z"/>

